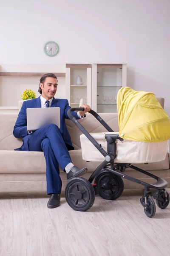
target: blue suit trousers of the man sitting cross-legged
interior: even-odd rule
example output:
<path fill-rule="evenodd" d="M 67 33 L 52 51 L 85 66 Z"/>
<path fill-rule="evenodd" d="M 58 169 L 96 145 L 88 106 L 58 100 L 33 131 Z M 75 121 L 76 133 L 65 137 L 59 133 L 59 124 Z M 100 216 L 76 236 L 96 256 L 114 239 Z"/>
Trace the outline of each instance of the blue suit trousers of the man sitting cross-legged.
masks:
<path fill-rule="evenodd" d="M 70 145 L 68 145 L 70 147 Z M 47 194 L 61 193 L 62 181 L 59 166 L 64 171 L 68 163 L 72 163 L 57 125 L 50 124 L 34 131 L 28 136 L 29 151 L 43 151 L 46 162 Z"/>

